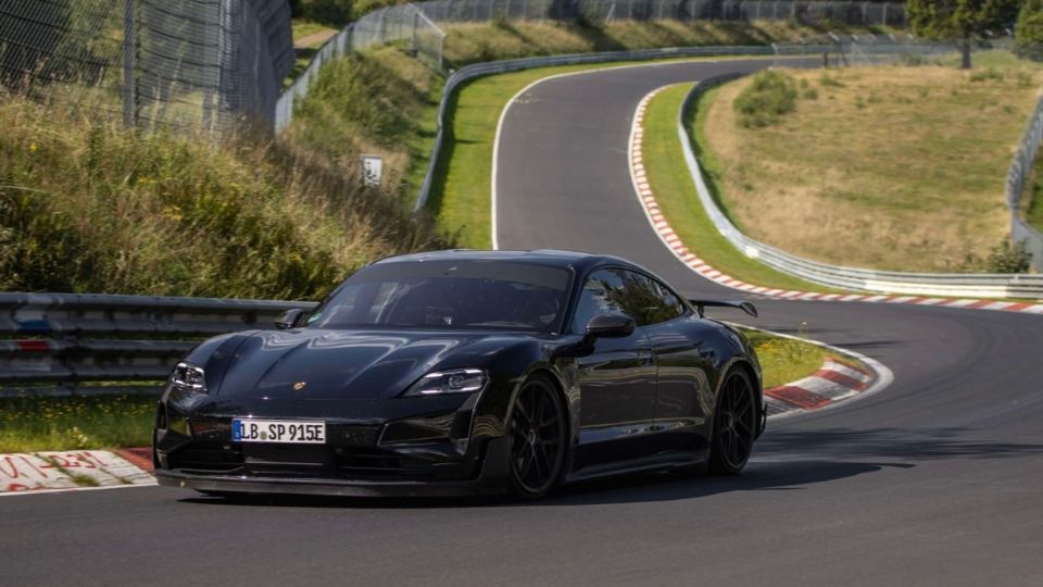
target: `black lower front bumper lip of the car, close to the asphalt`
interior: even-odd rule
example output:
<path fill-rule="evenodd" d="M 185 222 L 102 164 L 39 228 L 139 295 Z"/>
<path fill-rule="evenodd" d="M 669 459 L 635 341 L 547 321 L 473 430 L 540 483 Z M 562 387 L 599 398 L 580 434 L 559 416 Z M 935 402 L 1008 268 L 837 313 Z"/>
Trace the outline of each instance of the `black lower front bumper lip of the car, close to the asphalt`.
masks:
<path fill-rule="evenodd" d="M 290 494 L 340 497 L 413 497 L 495 495 L 506 489 L 508 474 L 507 439 L 486 442 L 477 478 L 464 480 L 369 480 L 299 477 L 259 477 L 250 475 L 199 474 L 180 470 L 155 471 L 160 485 L 198 491 L 242 494 Z"/>

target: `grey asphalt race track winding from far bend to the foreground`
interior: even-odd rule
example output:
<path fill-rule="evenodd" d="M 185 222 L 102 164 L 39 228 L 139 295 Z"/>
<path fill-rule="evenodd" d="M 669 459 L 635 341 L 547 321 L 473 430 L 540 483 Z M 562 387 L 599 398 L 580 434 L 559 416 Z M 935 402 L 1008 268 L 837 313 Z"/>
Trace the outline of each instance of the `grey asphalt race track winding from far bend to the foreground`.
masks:
<path fill-rule="evenodd" d="M 767 65 L 548 80 L 508 111 L 499 243 L 617 253 L 691 294 L 627 171 L 638 101 Z M 876 396 L 774 423 L 737 478 L 668 475 L 500 500 L 225 503 L 148 488 L 0 499 L 0 585 L 1038 585 L 1043 319 L 763 301 L 758 326 L 869 354 Z M 727 317 L 738 320 L 738 316 Z"/>

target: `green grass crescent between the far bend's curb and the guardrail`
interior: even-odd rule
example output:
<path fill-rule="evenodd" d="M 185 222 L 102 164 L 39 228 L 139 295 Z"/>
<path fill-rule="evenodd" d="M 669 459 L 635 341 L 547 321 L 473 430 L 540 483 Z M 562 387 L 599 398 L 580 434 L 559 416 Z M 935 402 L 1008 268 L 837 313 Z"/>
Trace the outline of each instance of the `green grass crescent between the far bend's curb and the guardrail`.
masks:
<path fill-rule="evenodd" d="M 645 173 L 670 226 L 694 254 L 736 279 L 771 288 L 828 291 L 829 288 L 777 272 L 746 257 L 714 227 L 695 192 L 677 138 L 677 115 L 691 88 L 691 84 L 681 84 L 659 92 L 650 101 L 644 117 L 642 153 Z M 696 109 L 695 113 L 705 116 L 703 109 Z M 693 122 L 696 128 L 702 128 L 701 121 L 689 121 L 690 130 Z M 698 135 L 695 142 L 696 155 L 713 190 L 713 179 L 719 173 L 720 164 L 711 153 L 700 149 Z"/>

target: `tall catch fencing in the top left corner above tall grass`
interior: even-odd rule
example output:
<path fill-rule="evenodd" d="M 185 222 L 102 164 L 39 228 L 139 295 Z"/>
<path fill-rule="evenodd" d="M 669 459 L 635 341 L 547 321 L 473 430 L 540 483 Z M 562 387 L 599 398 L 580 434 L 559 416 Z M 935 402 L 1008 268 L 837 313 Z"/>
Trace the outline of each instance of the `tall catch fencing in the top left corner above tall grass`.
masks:
<path fill-rule="evenodd" d="M 0 83 L 127 126 L 271 124 L 292 65 L 286 0 L 0 3 Z"/>

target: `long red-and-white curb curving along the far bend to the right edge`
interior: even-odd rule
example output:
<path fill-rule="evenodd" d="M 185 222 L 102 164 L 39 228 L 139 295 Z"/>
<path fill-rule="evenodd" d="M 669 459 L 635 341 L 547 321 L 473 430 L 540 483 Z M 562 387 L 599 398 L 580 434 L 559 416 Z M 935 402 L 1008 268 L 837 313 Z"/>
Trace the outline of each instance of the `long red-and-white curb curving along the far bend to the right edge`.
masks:
<path fill-rule="evenodd" d="M 1001 310 L 1004 312 L 1027 312 L 1030 314 L 1041 314 L 1043 315 L 1043 303 L 1026 303 L 1026 302 L 1008 302 L 1008 301 L 997 301 L 997 300 L 979 300 L 979 299 L 952 299 L 952 298 L 929 298 L 921 296 L 875 296 L 875 295 L 864 295 L 864 294 L 820 294 L 815 291 L 796 291 L 796 290 L 787 290 L 787 289 L 774 289 L 769 287 L 756 286 L 753 284 L 747 284 L 741 279 L 736 279 L 721 271 L 718 271 L 712 267 L 708 263 L 696 257 L 692 251 L 684 246 L 681 241 L 680 236 L 674 232 L 674 228 L 670 227 L 669 222 L 667 222 L 666 216 L 663 215 L 663 211 L 659 209 L 658 203 L 655 201 L 655 196 L 652 193 L 652 188 L 649 185 L 649 178 L 645 175 L 644 171 L 644 158 L 642 157 L 642 140 L 644 139 L 644 130 L 642 124 L 644 122 L 644 112 L 648 109 L 649 102 L 657 93 L 663 91 L 669 86 L 664 86 L 657 88 L 650 92 L 648 96 L 641 99 L 638 103 L 638 108 L 633 114 L 633 123 L 630 127 L 630 145 L 629 145 L 629 160 L 630 160 L 630 178 L 633 182 L 633 189 L 638 196 L 638 200 L 641 202 L 641 208 L 644 210 L 645 216 L 649 218 L 649 224 L 652 225 L 652 228 L 658 235 L 659 239 L 664 245 L 674 253 L 677 259 L 684 263 L 689 268 L 699 273 L 703 277 L 715 282 L 719 285 L 738 289 L 740 291 L 745 291 L 749 294 L 756 294 L 759 296 L 765 296 L 768 298 L 776 299 L 786 299 L 786 300 L 814 300 L 814 301 L 838 301 L 838 302 L 870 302 L 870 303 L 905 303 L 914 305 L 938 305 L 945 308 L 963 308 L 969 310 Z"/>

